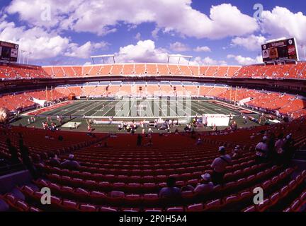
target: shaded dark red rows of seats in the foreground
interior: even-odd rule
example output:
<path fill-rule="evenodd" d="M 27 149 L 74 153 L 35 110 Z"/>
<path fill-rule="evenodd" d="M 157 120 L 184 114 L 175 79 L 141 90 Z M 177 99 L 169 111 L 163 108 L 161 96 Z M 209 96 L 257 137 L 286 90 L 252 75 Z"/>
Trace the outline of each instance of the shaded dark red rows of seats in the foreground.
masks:
<path fill-rule="evenodd" d="M 1 155 L 10 156 L 5 145 L 7 137 L 15 145 L 18 137 L 23 136 L 34 165 L 41 172 L 41 178 L 34 179 L 32 184 L 18 186 L 18 192 L 1 198 L 11 210 L 17 211 L 297 211 L 305 204 L 306 172 L 292 177 L 295 167 L 271 162 L 258 164 L 254 148 L 263 134 L 270 137 L 272 133 L 292 133 L 295 145 L 305 145 L 304 120 L 299 119 L 303 124 L 293 121 L 222 136 L 203 134 L 202 145 L 194 145 L 188 135 L 152 135 L 152 147 L 136 147 L 133 143 L 137 137 L 131 135 L 106 139 L 101 135 L 90 138 L 84 133 L 46 135 L 39 129 L 1 129 Z M 33 133 L 37 135 L 35 138 Z M 64 136 L 64 141 L 45 138 L 55 134 Z M 107 141 L 108 146 L 101 147 L 101 141 Z M 196 186 L 203 172 L 212 174 L 210 164 L 219 156 L 220 145 L 227 150 L 241 145 L 243 150 L 227 167 L 223 186 L 216 185 L 205 196 L 183 191 L 179 199 L 159 197 L 158 192 L 166 186 L 169 176 L 176 177 L 176 186 L 183 188 Z M 74 153 L 74 160 L 81 167 L 72 170 L 55 165 L 50 160 L 54 153 L 60 161 Z M 255 206 L 251 200 L 253 189 L 258 186 L 264 189 L 265 199 Z M 42 187 L 52 190 L 51 205 L 40 203 Z"/>

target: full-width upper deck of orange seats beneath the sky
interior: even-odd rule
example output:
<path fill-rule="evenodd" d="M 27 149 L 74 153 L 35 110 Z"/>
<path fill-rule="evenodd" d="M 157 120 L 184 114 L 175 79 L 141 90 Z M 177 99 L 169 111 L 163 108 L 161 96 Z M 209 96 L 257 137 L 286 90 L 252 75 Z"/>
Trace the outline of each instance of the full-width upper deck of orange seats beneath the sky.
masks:
<path fill-rule="evenodd" d="M 192 76 L 306 79 L 306 63 L 281 66 L 182 66 L 177 64 L 103 64 L 89 66 L 0 66 L 1 79 L 89 76 Z"/>

